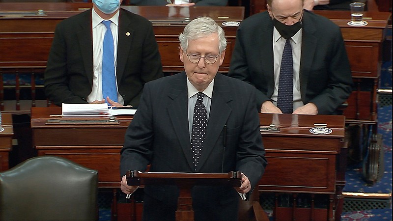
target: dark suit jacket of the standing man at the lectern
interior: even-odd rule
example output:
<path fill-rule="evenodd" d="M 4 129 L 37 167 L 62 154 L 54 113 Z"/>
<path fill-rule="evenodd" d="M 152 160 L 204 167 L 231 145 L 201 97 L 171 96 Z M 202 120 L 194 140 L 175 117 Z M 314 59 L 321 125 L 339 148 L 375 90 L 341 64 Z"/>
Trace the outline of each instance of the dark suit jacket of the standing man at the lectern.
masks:
<path fill-rule="evenodd" d="M 267 162 L 255 91 L 248 83 L 217 74 L 197 172 L 241 171 L 257 186 Z M 125 135 L 121 176 L 129 169 L 144 171 L 147 165 L 152 172 L 194 172 L 192 162 L 185 72 L 146 83 Z M 174 219 L 176 187 L 147 186 L 144 193 L 145 219 Z M 194 187 L 193 200 L 196 220 L 237 216 L 239 195 L 233 187 Z"/>

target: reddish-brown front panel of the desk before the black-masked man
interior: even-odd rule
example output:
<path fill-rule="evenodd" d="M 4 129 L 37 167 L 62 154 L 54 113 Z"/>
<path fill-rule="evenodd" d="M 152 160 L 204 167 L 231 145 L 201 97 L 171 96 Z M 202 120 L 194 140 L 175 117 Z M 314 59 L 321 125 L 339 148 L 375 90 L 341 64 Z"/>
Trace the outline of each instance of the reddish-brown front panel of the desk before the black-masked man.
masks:
<path fill-rule="evenodd" d="M 268 166 L 259 181 L 264 192 L 335 193 L 335 154 L 266 149 L 266 159 Z"/>

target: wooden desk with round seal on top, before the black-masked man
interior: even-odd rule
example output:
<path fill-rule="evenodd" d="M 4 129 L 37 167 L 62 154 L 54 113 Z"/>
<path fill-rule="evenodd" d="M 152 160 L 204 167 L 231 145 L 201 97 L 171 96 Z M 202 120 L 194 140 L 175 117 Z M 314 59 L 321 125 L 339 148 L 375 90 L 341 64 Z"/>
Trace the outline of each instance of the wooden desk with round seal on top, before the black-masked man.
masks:
<path fill-rule="evenodd" d="M 275 194 L 275 219 L 339 220 L 345 185 L 345 117 L 260 114 L 260 124 L 268 166 L 259 191 Z M 312 134 L 311 128 L 319 128 L 312 131 L 320 134 Z"/>

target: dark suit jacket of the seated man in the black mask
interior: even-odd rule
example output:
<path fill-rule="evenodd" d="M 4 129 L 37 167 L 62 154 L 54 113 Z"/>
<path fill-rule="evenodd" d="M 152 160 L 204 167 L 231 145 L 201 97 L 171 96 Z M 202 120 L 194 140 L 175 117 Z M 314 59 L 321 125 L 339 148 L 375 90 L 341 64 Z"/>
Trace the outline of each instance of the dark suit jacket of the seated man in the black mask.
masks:
<path fill-rule="evenodd" d="M 329 19 L 304 10 L 300 61 L 303 104 L 318 114 L 332 114 L 352 91 L 352 76 L 340 28 Z M 274 91 L 273 22 L 268 12 L 245 19 L 236 33 L 228 76 L 253 84 L 257 107 Z"/>

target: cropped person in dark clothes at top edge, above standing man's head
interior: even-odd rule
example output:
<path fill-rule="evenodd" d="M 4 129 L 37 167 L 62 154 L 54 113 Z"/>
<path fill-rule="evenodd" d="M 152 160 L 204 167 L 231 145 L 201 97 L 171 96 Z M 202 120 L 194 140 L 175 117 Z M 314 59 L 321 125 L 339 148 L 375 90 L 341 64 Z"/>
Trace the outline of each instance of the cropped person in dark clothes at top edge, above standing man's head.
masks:
<path fill-rule="evenodd" d="M 169 3 L 170 2 L 170 3 Z M 228 0 L 129 0 L 134 5 L 166 5 L 166 6 L 226 6 Z"/>

